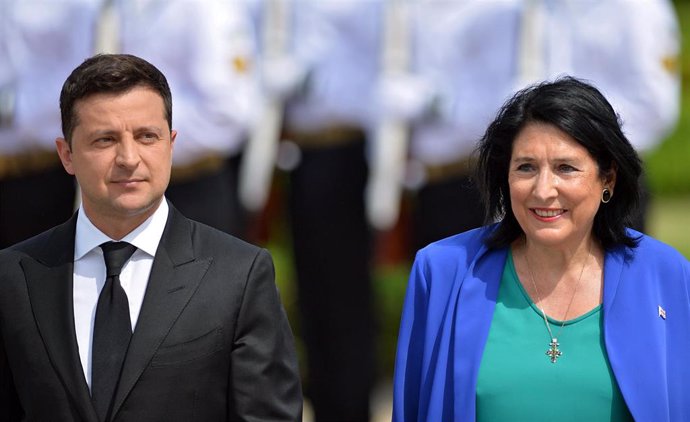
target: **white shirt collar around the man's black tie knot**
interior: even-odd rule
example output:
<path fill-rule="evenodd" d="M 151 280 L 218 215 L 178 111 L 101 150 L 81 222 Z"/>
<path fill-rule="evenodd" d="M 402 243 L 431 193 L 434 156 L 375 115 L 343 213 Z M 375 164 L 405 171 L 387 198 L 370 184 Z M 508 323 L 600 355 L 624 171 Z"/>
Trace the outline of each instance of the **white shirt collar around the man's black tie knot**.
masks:
<path fill-rule="evenodd" d="M 155 256 L 168 220 L 169 211 L 168 202 L 163 198 L 156 211 L 146 221 L 122 238 L 122 241 L 131 243 L 137 249 L 146 252 L 152 257 Z M 74 260 L 77 261 L 83 258 L 84 255 L 91 252 L 94 248 L 110 241 L 114 241 L 114 239 L 111 239 L 94 226 L 86 216 L 84 207 L 80 206 L 74 239 Z"/>

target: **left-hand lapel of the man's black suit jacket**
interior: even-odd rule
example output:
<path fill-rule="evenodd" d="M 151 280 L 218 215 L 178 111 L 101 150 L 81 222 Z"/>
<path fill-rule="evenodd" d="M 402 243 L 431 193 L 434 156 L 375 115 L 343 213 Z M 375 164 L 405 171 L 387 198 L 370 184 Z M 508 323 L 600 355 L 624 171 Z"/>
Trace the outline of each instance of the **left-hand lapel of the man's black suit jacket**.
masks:
<path fill-rule="evenodd" d="M 74 331 L 73 261 L 77 215 L 58 226 L 44 246 L 21 260 L 29 300 L 48 357 L 84 420 L 97 421 Z M 57 252 L 57 254 L 56 254 Z"/>

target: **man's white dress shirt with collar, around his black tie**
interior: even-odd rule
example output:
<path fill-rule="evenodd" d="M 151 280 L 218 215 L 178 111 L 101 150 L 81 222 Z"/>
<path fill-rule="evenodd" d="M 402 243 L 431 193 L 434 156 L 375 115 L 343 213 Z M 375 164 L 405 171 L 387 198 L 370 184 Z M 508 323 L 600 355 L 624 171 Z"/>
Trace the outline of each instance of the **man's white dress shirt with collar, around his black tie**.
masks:
<path fill-rule="evenodd" d="M 135 329 L 139 318 L 153 258 L 165 229 L 168 211 L 168 203 L 163 199 L 151 217 L 121 239 L 137 247 L 120 273 L 120 283 L 129 301 L 132 330 Z M 74 240 L 74 329 L 77 334 L 79 359 L 89 387 L 91 387 L 91 347 L 96 305 L 106 278 L 103 251 L 99 246 L 110 241 L 114 240 L 91 223 L 83 207 L 79 208 Z"/>

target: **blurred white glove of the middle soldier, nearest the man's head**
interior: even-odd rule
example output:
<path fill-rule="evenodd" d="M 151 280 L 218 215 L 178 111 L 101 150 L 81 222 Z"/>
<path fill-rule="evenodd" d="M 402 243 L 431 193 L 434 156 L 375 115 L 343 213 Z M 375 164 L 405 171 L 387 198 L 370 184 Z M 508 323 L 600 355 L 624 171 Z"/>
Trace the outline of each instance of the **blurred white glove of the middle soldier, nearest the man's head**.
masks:
<path fill-rule="evenodd" d="M 262 77 L 267 95 L 285 100 L 304 88 L 307 69 L 297 60 L 281 56 L 264 60 Z"/>

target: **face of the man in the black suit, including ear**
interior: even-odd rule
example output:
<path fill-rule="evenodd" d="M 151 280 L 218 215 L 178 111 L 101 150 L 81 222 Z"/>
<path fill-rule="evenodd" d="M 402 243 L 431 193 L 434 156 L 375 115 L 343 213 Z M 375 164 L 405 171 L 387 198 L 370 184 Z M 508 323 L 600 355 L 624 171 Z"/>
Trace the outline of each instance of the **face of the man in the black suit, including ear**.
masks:
<path fill-rule="evenodd" d="M 177 134 L 168 129 L 163 99 L 135 87 L 79 100 L 75 114 L 71 148 L 62 138 L 56 144 L 79 182 L 86 215 L 101 230 L 136 227 L 153 214 L 170 181 Z"/>

